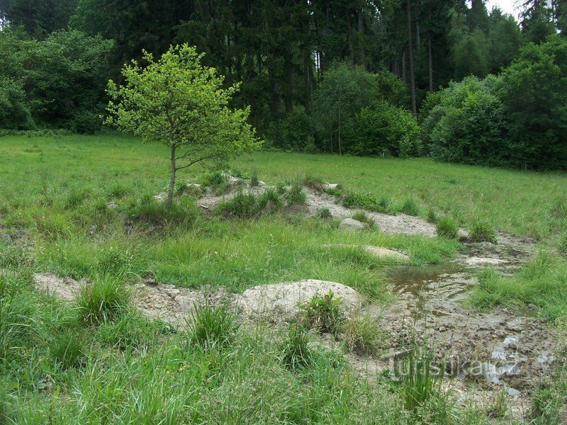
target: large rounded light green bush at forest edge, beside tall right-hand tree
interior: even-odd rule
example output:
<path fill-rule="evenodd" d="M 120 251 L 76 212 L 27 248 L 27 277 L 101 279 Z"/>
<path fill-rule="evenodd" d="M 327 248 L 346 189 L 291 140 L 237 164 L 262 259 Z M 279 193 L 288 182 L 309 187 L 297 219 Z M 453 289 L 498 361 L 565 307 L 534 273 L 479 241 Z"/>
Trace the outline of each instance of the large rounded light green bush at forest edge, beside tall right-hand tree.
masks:
<path fill-rule="evenodd" d="M 505 115 L 502 102 L 493 94 L 494 86 L 493 77 L 483 81 L 467 77 L 460 83 L 451 81 L 447 89 L 432 95 L 422 123 L 430 157 L 478 165 L 507 161 Z"/>

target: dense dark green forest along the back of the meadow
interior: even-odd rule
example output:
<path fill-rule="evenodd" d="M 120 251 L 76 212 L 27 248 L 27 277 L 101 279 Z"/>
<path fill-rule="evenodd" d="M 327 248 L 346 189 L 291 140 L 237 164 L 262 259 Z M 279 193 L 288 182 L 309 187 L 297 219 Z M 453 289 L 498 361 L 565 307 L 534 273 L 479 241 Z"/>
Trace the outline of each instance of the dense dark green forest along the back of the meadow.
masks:
<path fill-rule="evenodd" d="M 4 0 L 0 128 L 96 132 L 108 79 L 189 43 L 266 145 L 567 168 L 567 1 Z"/>

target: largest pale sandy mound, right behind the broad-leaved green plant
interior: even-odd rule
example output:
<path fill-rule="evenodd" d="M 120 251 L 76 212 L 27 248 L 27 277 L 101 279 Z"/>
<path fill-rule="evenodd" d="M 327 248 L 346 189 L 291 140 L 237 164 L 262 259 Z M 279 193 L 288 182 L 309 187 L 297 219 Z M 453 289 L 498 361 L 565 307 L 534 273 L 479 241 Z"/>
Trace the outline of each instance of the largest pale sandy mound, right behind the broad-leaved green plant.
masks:
<path fill-rule="evenodd" d="M 363 299 L 356 290 L 340 283 L 307 279 L 299 282 L 259 285 L 245 290 L 236 302 L 249 317 L 264 317 L 270 322 L 289 322 L 298 317 L 301 304 L 329 291 L 342 298 L 347 317 L 357 310 Z"/>

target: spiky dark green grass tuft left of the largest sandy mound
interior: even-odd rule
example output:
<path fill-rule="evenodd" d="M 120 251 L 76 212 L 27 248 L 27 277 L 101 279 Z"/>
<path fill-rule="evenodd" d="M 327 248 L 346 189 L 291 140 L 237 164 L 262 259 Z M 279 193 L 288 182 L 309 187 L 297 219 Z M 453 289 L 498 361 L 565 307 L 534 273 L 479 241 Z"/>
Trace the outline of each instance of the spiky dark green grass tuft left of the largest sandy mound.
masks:
<path fill-rule="evenodd" d="M 238 324 L 230 314 L 228 306 L 221 304 L 213 307 L 208 300 L 204 305 L 193 305 L 187 325 L 188 344 L 206 353 L 221 352 L 232 345 Z"/>

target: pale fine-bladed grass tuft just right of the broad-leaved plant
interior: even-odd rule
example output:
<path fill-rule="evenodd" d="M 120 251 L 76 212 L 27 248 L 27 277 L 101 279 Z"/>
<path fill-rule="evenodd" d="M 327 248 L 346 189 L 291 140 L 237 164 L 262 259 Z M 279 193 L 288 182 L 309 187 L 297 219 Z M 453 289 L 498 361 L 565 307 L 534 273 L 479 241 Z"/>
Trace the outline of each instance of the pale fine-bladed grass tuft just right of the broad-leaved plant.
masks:
<path fill-rule="evenodd" d="M 372 356 L 383 347 L 385 336 L 369 316 L 345 320 L 344 341 L 349 350 L 362 356 Z"/>

